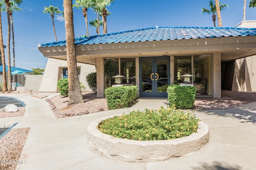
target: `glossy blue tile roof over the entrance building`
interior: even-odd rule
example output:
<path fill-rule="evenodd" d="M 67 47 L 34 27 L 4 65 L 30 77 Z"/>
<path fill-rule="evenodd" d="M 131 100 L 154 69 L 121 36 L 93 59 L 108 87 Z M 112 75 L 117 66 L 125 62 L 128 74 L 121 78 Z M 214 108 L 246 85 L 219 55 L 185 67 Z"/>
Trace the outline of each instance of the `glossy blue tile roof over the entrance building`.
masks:
<path fill-rule="evenodd" d="M 150 27 L 75 39 L 75 45 L 130 43 L 174 39 L 255 36 L 256 28 L 234 27 Z M 39 47 L 65 46 L 66 40 L 43 43 Z"/>

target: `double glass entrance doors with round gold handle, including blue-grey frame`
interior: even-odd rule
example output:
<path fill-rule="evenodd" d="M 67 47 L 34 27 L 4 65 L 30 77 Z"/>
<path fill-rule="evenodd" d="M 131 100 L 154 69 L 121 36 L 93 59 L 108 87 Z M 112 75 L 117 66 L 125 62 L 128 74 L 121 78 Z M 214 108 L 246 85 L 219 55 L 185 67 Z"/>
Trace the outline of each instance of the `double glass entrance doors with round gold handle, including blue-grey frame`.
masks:
<path fill-rule="evenodd" d="M 167 97 L 170 84 L 170 57 L 140 58 L 140 97 Z"/>

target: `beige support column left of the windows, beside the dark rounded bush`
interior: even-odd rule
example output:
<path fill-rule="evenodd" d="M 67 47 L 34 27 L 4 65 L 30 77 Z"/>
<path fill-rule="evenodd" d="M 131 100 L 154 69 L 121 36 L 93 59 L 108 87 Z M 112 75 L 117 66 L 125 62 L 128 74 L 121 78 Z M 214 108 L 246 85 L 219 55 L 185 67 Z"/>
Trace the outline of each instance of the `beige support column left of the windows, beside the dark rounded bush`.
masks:
<path fill-rule="evenodd" d="M 104 97 L 104 59 L 96 59 L 97 97 Z"/>

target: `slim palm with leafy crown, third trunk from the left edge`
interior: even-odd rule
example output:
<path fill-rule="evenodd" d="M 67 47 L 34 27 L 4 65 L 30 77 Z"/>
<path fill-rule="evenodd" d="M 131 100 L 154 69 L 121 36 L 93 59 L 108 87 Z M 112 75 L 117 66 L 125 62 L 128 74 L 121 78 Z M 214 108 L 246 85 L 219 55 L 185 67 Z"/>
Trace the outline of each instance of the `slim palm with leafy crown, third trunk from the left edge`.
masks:
<path fill-rule="evenodd" d="M 14 29 L 13 29 L 13 20 L 12 20 L 12 12 L 22 11 L 21 8 L 18 7 L 18 4 L 15 1 L 9 1 L 10 4 L 10 19 L 11 19 L 11 30 L 12 30 L 12 54 L 13 54 L 13 67 L 15 67 L 15 50 L 14 50 Z M 6 11 L 6 9 L 4 9 Z"/>

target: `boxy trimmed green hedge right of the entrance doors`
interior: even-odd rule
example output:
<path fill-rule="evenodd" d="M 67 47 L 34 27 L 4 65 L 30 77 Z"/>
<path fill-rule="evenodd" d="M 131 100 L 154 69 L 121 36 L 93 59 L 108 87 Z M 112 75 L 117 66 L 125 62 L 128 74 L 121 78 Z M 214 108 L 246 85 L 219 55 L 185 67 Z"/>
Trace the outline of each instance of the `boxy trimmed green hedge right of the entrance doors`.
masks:
<path fill-rule="evenodd" d="M 176 109 L 191 109 L 196 99 L 196 88 L 192 86 L 180 86 L 170 84 L 168 86 L 168 100 L 170 106 Z"/>

